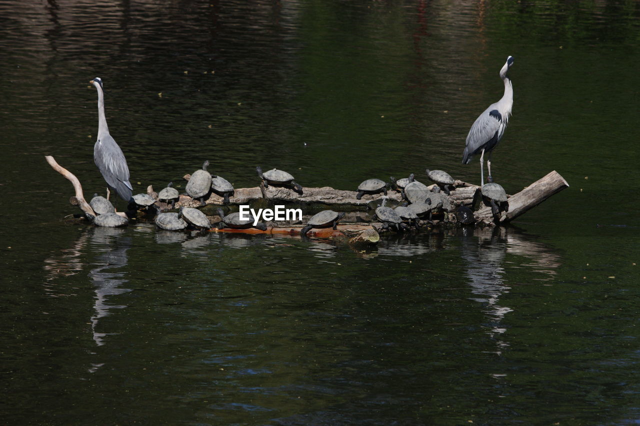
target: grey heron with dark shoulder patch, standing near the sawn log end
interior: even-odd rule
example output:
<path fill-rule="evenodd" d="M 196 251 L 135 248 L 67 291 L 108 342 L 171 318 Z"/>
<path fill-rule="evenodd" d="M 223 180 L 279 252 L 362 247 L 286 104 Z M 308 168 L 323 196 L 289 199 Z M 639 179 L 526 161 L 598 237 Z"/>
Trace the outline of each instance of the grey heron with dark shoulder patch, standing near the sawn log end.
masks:
<path fill-rule="evenodd" d="M 502 99 L 495 104 L 491 104 L 471 126 L 467 135 L 467 144 L 465 153 L 462 155 L 462 164 L 469 164 L 474 155 L 480 153 L 480 179 L 484 185 L 484 152 L 489 154 L 486 166 L 491 178 L 491 153 L 493 148 L 498 145 L 504 129 L 509 122 L 511 115 L 511 107 L 513 106 L 513 86 L 511 80 L 507 77 L 507 71 L 513 65 L 513 56 L 509 56 L 507 61 L 500 69 L 500 78 L 504 82 L 504 95 Z"/>

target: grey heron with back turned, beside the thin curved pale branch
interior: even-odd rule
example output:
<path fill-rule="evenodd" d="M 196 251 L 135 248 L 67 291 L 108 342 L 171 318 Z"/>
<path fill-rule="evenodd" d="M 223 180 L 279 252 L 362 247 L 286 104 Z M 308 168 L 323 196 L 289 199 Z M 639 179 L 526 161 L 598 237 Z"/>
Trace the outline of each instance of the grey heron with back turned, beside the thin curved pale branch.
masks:
<path fill-rule="evenodd" d="M 93 161 L 107 182 L 107 200 L 109 189 L 118 193 L 122 200 L 131 200 L 133 188 L 129 183 L 129 167 L 120 146 L 109 134 L 107 119 L 104 116 L 104 93 L 102 80 L 95 77 L 89 82 L 98 90 L 98 140 L 93 146 Z"/>

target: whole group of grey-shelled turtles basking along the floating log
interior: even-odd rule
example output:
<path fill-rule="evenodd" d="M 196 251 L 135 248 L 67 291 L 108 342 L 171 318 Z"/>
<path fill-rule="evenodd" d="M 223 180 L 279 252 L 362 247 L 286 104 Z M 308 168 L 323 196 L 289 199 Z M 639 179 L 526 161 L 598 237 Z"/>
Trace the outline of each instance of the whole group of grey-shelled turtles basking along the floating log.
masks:
<path fill-rule="evenodd" d="M 189 178 L 185 191 L 188 196 L 194 200 L 199 200 L 200 205 L 205 205 L 205 199 L 211 193 L 216 193 L 223 197 L 223 203 L 229 203 L 229 196 L 234 194 L 234 187 L 228 180 L 223 177 L 211 175 L 207 171 L 209 161 L 202 164 L 202 169 L 196 170 Z M 283 170 L 269 170 L 263 172 L 260 167 L 256 168 L 258 176 L 262 180 L 262 185 L 268 187 L 278 185 L 290 187 L 296 193 L 302 195 L 303 188 L 297 184 L 294 177 Z M 395 209 L 385 206 L 386 200 L 375 211 L 375 217 L 382 223 L 384 229 L 394 228 L 397 231 L 408 230 L 409 228 L 419 226 L 419 221 L 431 221 L 432 215 L 439 212 L 455 212 L 458 221 L 468 225 L 474 223 L 474 210 L 479 209 L 480 205 L 491 207 L 494 221 L 497 223 L 501 212 L 507 212 L 509 203 L 507 201 L 506 192 L 499 184 L 490 180 L 488 184 L 477 189 L 472 203 L 472 209 L 465 205 L 458 206 L 454 209 L 448 195 L 455 189 L 455 180 L 449 173 L 442 170 L 426 170 L 426 175 L 432 185 L 430 189 L 427 185 L 415 180 L 412 173 L 409 177 L 397 179 L 390 177 L 390 182 L 374 178 L 367 179 L 358 185 L 356 198 L 360 200 L 364 194 L 383 193 L 387 195 L 388 189 L 392 189 L 401 193 L 403 203 Z M 167 187 L 157 194 L 157 199 L 148 194 L 137 194 L 132 196 L 129 204 L 130 210 L 138 209 L 156 209 L 155 222 L 156 225 L 164 230 L 184 230 L 186 228 L 195 228 L 197 230 L 210 229 L 212 224 L 207 216 L 200 210 L 193 207 L 180 207 L 178 212 L 163 213 L 156 206 L 156 201 L 162 201 L 171 208 L 175 208 L 175 202 L 179 200 L 179 192 L 170 182 Z M 122 226 L 127 223 L 127 218 L 115 213 L 113 205 L 102 196 L 95 194 L 90 201 L 90 205 L 98 216 L 93 217 L 93 221 L 99 226 Z M 218 228 L 257 228 L 266 230 L 264 223 L 253 225 L 254 218 L 248 214 L 248 219 L 241 219 L 238 212 L 225 214 L 222 209 L 218 209 L 221 222 L 217 224 Z M 307 225 L 302 230 L 302 235 L 312 228 L 336 228 L 337 223 L 344 217 L 344 212 L 339 213 L 333 210 L 323 210 L 312 216 Z"/>

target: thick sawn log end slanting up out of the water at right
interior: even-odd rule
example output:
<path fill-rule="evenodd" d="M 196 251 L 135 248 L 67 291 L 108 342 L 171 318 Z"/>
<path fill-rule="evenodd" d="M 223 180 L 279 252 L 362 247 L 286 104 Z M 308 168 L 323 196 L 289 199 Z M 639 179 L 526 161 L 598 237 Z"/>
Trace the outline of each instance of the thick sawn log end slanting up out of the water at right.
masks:
<path fill-rule="evenodd" d="M 568 188 L 569 184 L 564 178 L 557 172 L 552 171 L 545 177 L 531 185 L 525 187 L 517 194 L 513 194 L 509 197 L 509 212 L 500 215 L 500 223 L 507 223 L 512 221 L 518 216 L 521 216 L 527 210 L 533 209 L 536 205 L 542 201 L 547 200 L 553 194 L 559 193 L 565 188 Z M 483 207 L 476 212 L 476 219 L 479 221 L 493 223 L 493 216 L 489 207 Z"/>

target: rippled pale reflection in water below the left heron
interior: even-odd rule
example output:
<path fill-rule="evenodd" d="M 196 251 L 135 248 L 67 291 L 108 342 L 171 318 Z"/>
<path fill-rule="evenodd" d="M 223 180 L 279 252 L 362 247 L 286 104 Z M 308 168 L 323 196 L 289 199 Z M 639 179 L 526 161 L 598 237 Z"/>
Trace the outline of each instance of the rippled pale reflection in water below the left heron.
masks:
<path fill-rule="evenodd" d="M 118 271 L 127 265 L 127 249 L 131 248 L 131 237 L 122 237 L 124 232 L 125 230 L 120 228 L 96 227 L 91 237 L 95 251 L 102 253 L 96 259 L 97 267 L 89 272 L 89 278 L 95 285 L 96 296 L 91 329 L 93 340 L 98 346 L 104 345 L 106 335 L 113 334 L 97 331 L 99 319 L 109 315 L 111 309 L 126 308 L 124 305 L 109 304 L 108 297 L 131 291 L 131 288 L 120 287 L 127 280 L 124 279 L 125 272 Z"/>

